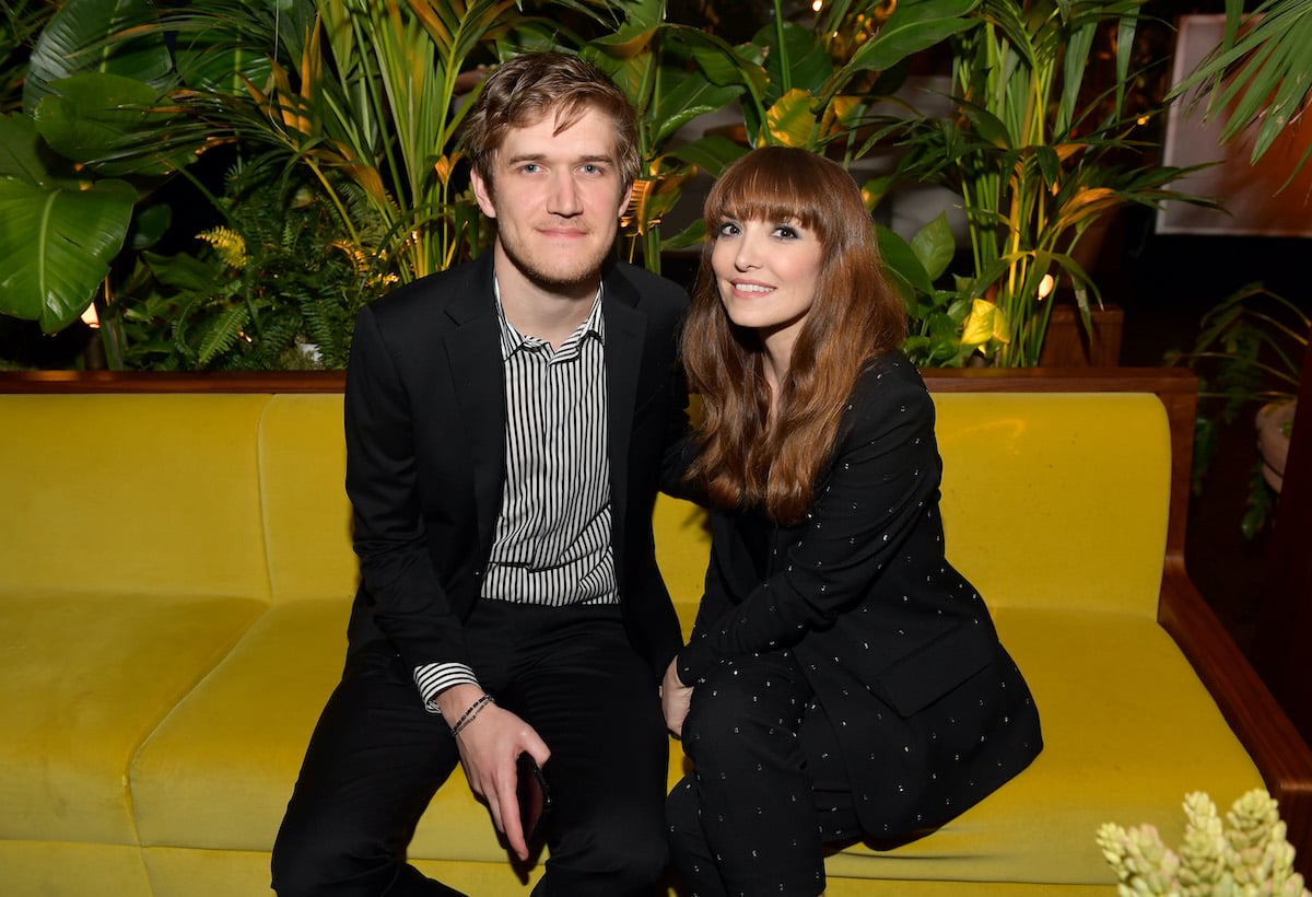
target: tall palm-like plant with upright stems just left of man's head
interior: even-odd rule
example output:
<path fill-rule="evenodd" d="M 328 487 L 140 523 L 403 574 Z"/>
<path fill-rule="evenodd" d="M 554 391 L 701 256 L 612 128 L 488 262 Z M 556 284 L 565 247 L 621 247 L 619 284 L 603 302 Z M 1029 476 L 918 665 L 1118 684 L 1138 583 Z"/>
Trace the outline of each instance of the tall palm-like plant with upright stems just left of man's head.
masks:
<path fill-rule="evenodd" d="M 492 42 L 521 18 L 516 4 L 308 5 L 314 16 L 306 17 L 304 33 L 261 35 L 273 58 L 272 84 L 248 79 L 244 96 L 213 96 L 210 116 L 262 144 L 270 158 L 311 171 L 348 229 L 353 222 L 337 184 L 362 189 L 388 227 L 379 264 L 401 281 L 476 252 L 478 209 L 454 179 L 454 134 L 466 108 L 457 98 L 478 89 L 466 68 L 495 60 Z"/>

